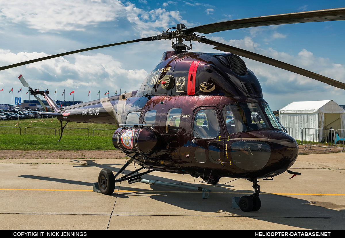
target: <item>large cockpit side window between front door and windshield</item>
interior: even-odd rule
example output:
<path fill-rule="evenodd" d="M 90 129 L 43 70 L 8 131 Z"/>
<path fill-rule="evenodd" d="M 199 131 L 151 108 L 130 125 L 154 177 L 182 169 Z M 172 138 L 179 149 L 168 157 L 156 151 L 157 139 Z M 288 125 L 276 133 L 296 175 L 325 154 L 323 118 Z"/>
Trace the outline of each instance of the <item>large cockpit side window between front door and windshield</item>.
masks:
<path fill-rule="evenodd" d="M 229 134 L 269 127 L 263 115 L 255 102 L 236 103 L 223 108 L 223 117 Z"/>

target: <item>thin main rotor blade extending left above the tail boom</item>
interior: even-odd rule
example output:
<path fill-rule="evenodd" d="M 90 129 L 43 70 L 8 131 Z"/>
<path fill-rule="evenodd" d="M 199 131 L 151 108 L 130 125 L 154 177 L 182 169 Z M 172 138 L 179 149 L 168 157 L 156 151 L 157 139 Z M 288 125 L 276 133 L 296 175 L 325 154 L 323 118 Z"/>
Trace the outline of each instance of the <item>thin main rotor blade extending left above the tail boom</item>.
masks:
<path fill-rule="evenodd" d="M 113 44 L 105 44 L 103 46 L 90 47 L 90 48 L 85 48 L 85 49 L 81 49 L 81 50 L 73 50 L 73 51 L 69 51 L 69 52 L 65 52 L 65 53 L 61 53 L 61 54 L 54 54 L 51 56 L 46 56 L 46 57 L 42 57 L 42 58 L 38 58 L 38 59 L 34 59 L 34 60 L 28 60 L 28 61 L 24 61 L 21 63 L 15 63 L 13 65 L 2 66 L 2 67 L 0 67 L 0 71 L 5 70 L 5 69 L 18 67 L 18 66 L 22 66 L 22 65 L 28 65 L 29 63 L 34 63 L 34 62 L 38 62 L 38 61 L 42 61 L 42 60 L 57 58 L 57 57 L 61 57 L 61 56 L 67 56 L 68 54 L 75 54 L 75 53 L 80 53 L 80 52 L 84 52 L 84 51 L 88 51 L 88 50 L 96 50 L 96 49 L 106 48 L 106 47 L 110 47 L 110 46 L 118 46 L 120 44 L 128 44 L 128 43 L 134 43 L 134 42 L 140 42 L 140 41 L 150 41 L 150 40 L 154 40 L 154 39 L 152 37 L 146 37 L 146 38 L 124 41 L 124 42 L 118 42 L 118 43 L 113 43 Z"/>

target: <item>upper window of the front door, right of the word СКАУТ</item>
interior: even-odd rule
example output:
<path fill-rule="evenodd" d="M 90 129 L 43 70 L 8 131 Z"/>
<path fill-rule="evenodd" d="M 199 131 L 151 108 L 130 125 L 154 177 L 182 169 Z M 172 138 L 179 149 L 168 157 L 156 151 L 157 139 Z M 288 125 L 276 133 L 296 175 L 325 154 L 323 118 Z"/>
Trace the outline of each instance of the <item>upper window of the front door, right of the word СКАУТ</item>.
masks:
<path fill-rule="evenodd" d="M 195 138 L 216 138 L 220 133 L 217 112 L 205 109 L 197 112 L 194 118 L 193 135 Z"/>

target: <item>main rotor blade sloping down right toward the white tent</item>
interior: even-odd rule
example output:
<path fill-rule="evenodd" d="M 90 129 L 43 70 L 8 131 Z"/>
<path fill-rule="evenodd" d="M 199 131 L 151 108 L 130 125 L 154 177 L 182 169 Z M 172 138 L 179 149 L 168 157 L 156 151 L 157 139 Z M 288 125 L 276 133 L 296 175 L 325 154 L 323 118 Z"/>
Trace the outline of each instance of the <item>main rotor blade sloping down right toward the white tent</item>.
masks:
<path fill-rule="evenodd" d="M 303 75 L 305 77 L 312 78 L 312 79 L 315 79 L 315 80 L 320 81 L 320 82 L 327 83 L 328 85 L 334 86 L 336 88 L 345 89 L 345 83 L 336 81 L 336 80 L 331 79 L 331 78 L 327 78 L 325 76 L 322 76 L 322 75 L 319 75 L 317 73 L 308 71 L 306 69 L 302 69 L 302 68 L 299 68 L 297 66 L 293 66 L 293 65 L 290 65 L 288 63 L 284 63 L 282 61 L 263 56 L 261 54 L 250 52 L 248 50 L 243 50 L 243 49 L 240 49 L 240 48 L 237 48 L 234 46 L 229 46 L 227 44 L 219 43 L 219 42 L 205 39 L 205 38 L 202 38 L 202 39 L 203 39 L 202 42 L 216 46 L 213 49 L 224 51 L 224 52 L 231 52 L 233 54 L 237 54 L 238 56 L 242 56 L 242 57 L 245 57 L 248 59 L 259 61 L 259 62 L 265 63 L 267 65 L 272 65 L 272 66 L 278 67 L 280 69 L 285 69 L 287 71 L 297 73 L 299 75 Z"/>

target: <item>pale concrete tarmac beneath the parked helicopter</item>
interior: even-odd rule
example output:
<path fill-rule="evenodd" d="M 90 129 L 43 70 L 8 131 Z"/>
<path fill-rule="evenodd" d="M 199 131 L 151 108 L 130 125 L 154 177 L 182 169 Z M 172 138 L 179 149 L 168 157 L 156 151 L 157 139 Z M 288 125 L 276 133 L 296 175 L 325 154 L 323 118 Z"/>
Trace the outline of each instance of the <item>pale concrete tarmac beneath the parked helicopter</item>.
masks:
<path fill-rule="evenodd" d="M 200 191 L 127 181 L 116 184 L 111 196 L 96 193 L 92 183 L 97 182 L 100 170 L 116 173 L 126 158 L 85 157 L 3 157 L 0 229 L 345 228 L 344 153 L 299 155 L 290 170 L 302 175 L 259 179 L 262 206 L 252 212 L 231 208 L 232 197 L 253 193 L 252 183 L 244 179 L 221 178 L 212 186 L 189 175 L 152 172 L 142 176 L 213 190 L 207 199 Z M 131 164 L 125 173 L 133 170 Z"/>

